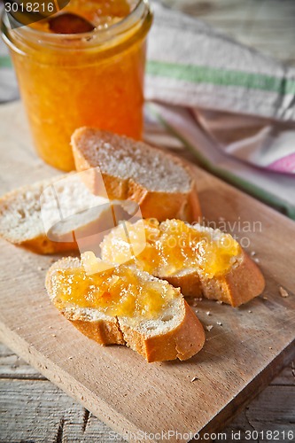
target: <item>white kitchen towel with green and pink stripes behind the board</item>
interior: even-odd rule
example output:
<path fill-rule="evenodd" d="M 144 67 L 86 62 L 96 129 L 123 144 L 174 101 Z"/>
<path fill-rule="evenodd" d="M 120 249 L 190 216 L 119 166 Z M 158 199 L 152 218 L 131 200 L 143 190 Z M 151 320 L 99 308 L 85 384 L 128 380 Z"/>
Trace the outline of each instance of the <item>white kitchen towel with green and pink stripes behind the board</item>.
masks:
<path fill-rule="evenodd" d="M 153 6 L 154 113 L 203 167 L 295 219 L 295 69 Z"/>

